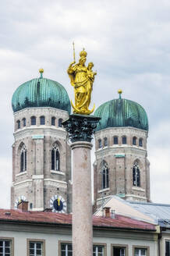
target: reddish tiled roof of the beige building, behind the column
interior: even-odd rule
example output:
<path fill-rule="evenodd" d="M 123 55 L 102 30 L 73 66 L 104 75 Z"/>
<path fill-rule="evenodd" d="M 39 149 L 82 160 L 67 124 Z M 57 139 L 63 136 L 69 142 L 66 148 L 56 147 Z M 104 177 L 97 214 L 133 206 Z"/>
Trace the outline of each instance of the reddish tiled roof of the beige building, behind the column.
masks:
<path fill-rule="evenodd" d="M 55 212 L 22 212 L 21 210 L 0 209 L 0 222 L 4 221 L 71 225 L 72 215 Z M 95 227 L 117 229 L 144 229 L 146 231 L 156 230 L 153 224 L 141 222 L 122 215 L 115 215 L 115 219 L 94 216 L 93 225 Z"/>

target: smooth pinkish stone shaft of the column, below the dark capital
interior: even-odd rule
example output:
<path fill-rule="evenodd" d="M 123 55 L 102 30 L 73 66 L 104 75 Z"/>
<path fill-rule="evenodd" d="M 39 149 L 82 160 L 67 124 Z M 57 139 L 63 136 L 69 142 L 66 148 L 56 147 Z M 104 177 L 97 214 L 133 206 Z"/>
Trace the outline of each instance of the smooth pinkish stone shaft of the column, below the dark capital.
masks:
<path fill-rule="evenodd" d="M 86 141 L 74 142 L 73 150 L 73 256 L 93 254 L 90 149 Z"/>

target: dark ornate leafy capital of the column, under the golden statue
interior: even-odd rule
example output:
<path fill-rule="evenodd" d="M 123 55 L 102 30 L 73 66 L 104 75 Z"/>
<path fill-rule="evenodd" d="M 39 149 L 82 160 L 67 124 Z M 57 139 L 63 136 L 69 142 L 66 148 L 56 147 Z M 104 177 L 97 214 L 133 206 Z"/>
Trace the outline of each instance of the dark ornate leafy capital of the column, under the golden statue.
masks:
<path fill-rule="evenodd" d="M 97 127 L 97 123 L 100 120 L 97 116 L 86 115 L 70 115 L 69 119 L 62 123 L 69 133 L 69 139 L 72 142 L 87 141 L 91 142 L 94 129 Z"/>

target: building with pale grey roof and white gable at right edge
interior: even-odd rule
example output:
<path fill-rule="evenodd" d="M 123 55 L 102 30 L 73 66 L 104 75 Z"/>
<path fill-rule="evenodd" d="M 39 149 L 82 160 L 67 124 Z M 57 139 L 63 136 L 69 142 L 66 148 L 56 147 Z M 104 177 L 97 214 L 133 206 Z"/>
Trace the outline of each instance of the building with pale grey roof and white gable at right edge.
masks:
<path fill-rule="evenodd" d="M 112 196 L 101 208 L 97 209 L 94 215 L 103 216 L 104 208 L 109 208 L 115 215 L 124 215 L 159 226 L 158 255 L 170 255 L 170 204 L 125 201 L 120 197 Z"/>

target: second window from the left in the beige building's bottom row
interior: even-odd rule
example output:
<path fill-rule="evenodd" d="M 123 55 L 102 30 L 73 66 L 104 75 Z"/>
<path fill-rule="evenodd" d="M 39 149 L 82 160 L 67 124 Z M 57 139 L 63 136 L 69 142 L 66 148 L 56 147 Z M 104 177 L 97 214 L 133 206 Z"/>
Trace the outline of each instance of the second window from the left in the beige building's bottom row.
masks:
<path fill-rule="evenodd" d="M 44 256 L 44 240 L 27 240 L 27 256 Z"/>

